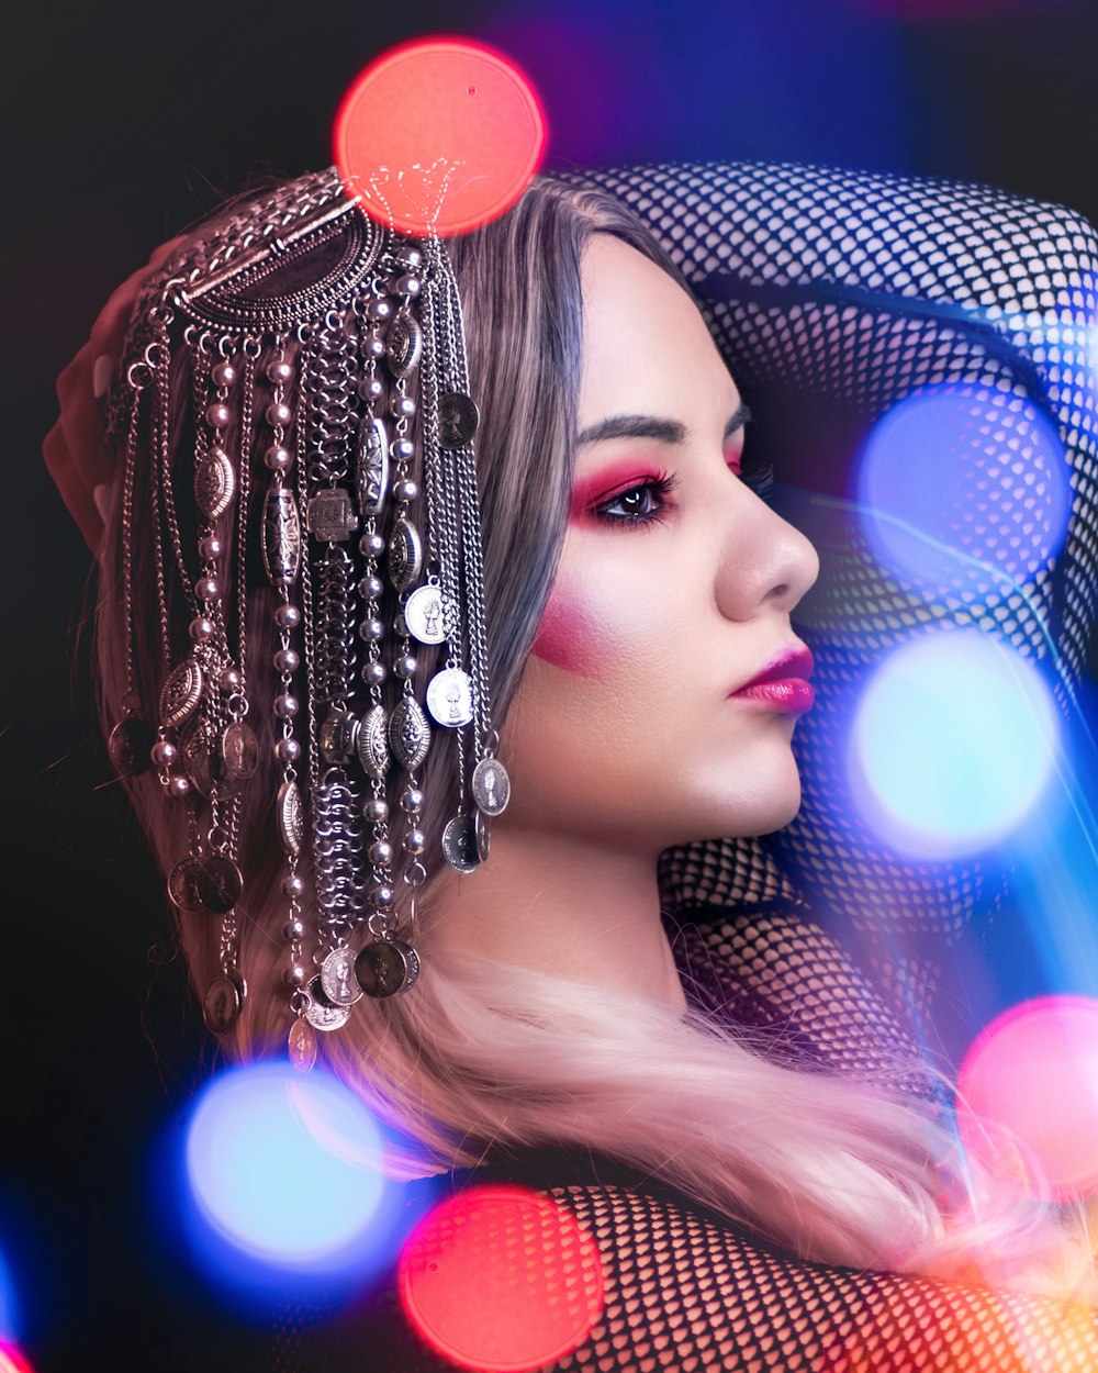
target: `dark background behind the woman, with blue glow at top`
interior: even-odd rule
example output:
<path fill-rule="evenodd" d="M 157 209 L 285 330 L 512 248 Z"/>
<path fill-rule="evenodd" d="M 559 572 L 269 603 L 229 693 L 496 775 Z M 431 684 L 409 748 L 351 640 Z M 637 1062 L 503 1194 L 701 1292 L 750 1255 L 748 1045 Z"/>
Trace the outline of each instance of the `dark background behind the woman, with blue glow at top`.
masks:
<path fill-rule="evenodd" d="M 220 1307 L 155 1222 L 156 1142 L 213 1059 L 86 700 L 91 559 L 40 459 L 58 371 L 156 243 L 250 176 L 327 165 L 355 73 L 432 32 L 526 67 L 550 169 L 832 162 L 996 183 L 1098 220 L 1098 5 L 82 0 L 15 19 L 0 82 L 0 1265 L 40 1373 L 247 1373 L 268 1366 L 262 1330 Z"/>

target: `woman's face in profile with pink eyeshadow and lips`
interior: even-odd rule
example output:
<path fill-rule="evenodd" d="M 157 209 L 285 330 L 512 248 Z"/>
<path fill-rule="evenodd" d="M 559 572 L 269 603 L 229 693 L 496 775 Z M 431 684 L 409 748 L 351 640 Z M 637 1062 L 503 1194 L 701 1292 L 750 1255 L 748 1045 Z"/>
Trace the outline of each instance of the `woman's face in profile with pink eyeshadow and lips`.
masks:
<path fill-rule="evenodd" d="M 738 475 L 740 394 L 696 306 L 607 235 L 583 338 L 568 530 L 504 735 L 508 822 L 656 851 L 766 833 L 800 803 L 810 667 L 743 689 L 803 652 L 789 612 L 815 552 Z"/>

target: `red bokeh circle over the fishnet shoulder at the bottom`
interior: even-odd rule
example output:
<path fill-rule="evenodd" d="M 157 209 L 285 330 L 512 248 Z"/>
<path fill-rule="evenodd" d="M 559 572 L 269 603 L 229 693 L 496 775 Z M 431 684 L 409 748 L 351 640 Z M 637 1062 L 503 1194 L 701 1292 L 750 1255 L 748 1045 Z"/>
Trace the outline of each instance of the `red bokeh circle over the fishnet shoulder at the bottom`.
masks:
<path fill-rule="evenodd" d="M 517 1186 L 471 1188 L 435 1207 L 404 1247 L 398 1284 L 423 1340 L 478 1373 L 553 1363 L 603 1311 L 594 1240 L 564 1207 Z"/>

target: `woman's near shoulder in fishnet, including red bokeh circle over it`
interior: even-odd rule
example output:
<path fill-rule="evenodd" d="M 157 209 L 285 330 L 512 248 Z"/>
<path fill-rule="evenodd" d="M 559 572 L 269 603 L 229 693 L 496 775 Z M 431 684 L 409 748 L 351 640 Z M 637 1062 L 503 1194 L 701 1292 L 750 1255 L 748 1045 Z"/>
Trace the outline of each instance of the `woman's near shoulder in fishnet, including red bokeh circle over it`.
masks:
<path fill-rule="evenodd" d="M 806 1263 L 587 1153 L 498 1159 L 447 1175 L 435 1195 L 371 1291 L 334 1319 L 284 1322 L 276 1368 L 1098 1366 L 1090 1310 Z"/>

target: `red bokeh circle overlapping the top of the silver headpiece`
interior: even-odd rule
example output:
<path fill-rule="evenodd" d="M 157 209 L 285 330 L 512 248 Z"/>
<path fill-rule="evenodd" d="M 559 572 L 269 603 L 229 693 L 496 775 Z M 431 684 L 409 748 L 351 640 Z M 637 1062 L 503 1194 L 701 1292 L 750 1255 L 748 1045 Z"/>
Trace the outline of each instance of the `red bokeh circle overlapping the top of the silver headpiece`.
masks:
<path fill-rule="evenodd" d="M 335 163 L 372 218 L 402 233 L 467 233 L 519 199 L 545 151 L 528 78 L 465 38 L 390 48 L 343 96 Z"/>

